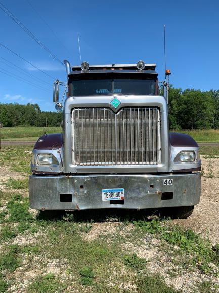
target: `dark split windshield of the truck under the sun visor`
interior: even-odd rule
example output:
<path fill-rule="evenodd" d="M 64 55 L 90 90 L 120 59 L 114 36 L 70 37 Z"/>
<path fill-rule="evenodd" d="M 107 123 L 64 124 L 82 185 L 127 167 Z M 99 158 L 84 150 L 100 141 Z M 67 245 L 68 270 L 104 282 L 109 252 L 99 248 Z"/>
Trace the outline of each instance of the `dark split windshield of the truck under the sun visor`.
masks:
<path fill-rule="evenodd" d="M 153 79 L 86 79 L 72 80 L 69 84 L 73 96 L 135 94 L 154 95 L 155 80 Z"/>

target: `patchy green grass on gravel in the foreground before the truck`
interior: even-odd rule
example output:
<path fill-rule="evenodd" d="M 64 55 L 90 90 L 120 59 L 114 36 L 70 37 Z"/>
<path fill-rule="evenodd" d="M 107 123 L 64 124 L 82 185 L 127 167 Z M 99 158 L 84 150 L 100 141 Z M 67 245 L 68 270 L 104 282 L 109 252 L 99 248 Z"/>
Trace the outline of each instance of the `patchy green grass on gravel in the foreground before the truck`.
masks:
<path fill-rule="evenodd" d="M 22 167 L 24 170 L 30 158 L 26 151 L 29 151 L 29 146 L 4 146 L 0 164 L 2 161 L 12 168 L 10 165 L 10 157 L 12 157 L 17 165 L 22 161 L 25 162 Z M 56 211 L 39 212 L 35 217 L 29 212 L 29 202 L 23 197 L 22 189 L 20 191 L 15 189 L 21 187 L 27 188 L 26 179 L 24 181 L 10 179 L 8 181 L 10 191 L 0 191 L 1 203 L 4 206 L 4 210 L 0 212 L 0 223 L 3 223 L 0 226 L 2 246 L 0 271 L 4 273 L 4 276 L 0 274 L 0 293 L 1 286 L 3 292 L 8 284 L 11 286 L 17 274 L 17 271 L 14 273 L 13 271 L 20 266 L 23 267 L 22 270 L 18 270 L 20 274 L 24 274 L 26 270 L 37 271 L 36 268 L 40 272 L 31 279 L 32 283 L 26 289 L 28 293 L 62 291 L 120 293 L 125 292 L 123 286 L 126 284 L 134 286 L 127 290 L 130 293 L 180 293 L 167 286 L 160 275 L 148 272 L 148 261 L 140 257 L 138 248 L 145 245 L 145 249 L 151 249 L 147 246 L 148 243 L 150 245 L 151 238 L 160 239 L 162 245 L 153 245 L 156 245 L 158 252 L 167 255 L 170 262 L 176 266 L 176 272 L 174 270 L 170 272 L 173 280 L 183 270 L 186 272 L 195 270 L 213 276 L 214 273 L 208 264 L 213 263 L 216 266 L 219 264 L 218 245 L 211 247 L 208 240 L 191 230 L 174 226 L 167 220 L 135 221 L 135 229 L 133 227 L 129 229 L 133 218 L 127 216 L 124 220 L 118 219 L 118 225 L 113 226 L 115 230 L 109 229 L 107 235 L 102 235 L 100 231 L 99 236 L 87 240 L 87 237 L 93 235 L 93 229 L 95 235 L 97 227 L 95 218 L 88 220 L 86 217 L 78 216 L 77 213 Z M 84 214 L 90 215 L 92 211 Z M 98 215 L 94 214 L 94 216 L 100 221 Z M 106 221 L 105 224 L 108 229 L 108 222 Z M 109 227 L 112 225 L 109 224 Z M 101 227 L 99 228 L 101 230 Z M 36 232 L 38 233 L 35 235 Z M 24 241 L 19 245 L 10 245 L 17 234 L 23 237 Z M 33 238 L 33 243 L 25 243 L 28 237 Z M 128 246 L 126 248 L 124 244 L 131 244 L 135 250 L 129 249 Z M 175 246 L 179 249 L 175 249 Z M 22 263 L 23 259 L 25 265 Z M 60 268 L 60 273 L 48 274 L 48 269 L 53 267 L 50 266 L 51 262 L 55 262 L 55 266 Z M 183 268 L 182 271 L 178 270 L 180 267 Z M 196 287 L 200 288 L 201 293 L 207 293 L 212 291 L 214 285 L 203 282 Z"/>

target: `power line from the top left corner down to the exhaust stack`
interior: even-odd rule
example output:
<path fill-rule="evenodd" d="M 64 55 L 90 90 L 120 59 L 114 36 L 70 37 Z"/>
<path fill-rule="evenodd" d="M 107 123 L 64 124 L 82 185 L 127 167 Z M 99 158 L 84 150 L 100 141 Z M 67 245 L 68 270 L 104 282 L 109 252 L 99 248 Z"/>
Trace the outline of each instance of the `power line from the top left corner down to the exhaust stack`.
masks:
<path fill-rule="evenodd" d="M 15 23 L 17 23 L 25 32 L 28 34 L 38 45 L 40 45 L 45 51 L 47 51 L 56 61 L 61 63 L 63 66 L 63 62 L 54 55 L 47 46 L 45 46 L 42 42 L 39 41 L 39 39 L 36 38 L 35 35 L 10 11 L 8 10 L 4 4 L 0 2 L 0 9 L 4 11 Z"/>

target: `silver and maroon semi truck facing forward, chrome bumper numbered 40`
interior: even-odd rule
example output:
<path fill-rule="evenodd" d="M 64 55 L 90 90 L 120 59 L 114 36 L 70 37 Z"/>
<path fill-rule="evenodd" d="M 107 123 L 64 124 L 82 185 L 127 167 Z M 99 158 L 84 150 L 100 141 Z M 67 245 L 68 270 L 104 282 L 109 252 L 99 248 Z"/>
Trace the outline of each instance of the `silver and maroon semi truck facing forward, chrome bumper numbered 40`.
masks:
<path fill-rule="evenodd" d="M 53 96 L 63 130 L 42 135 L 33 148 L 30 207 L 164 208 L 190 216 L 200 200 L 199 147 L 169 132 L 168 82 L 161 95 L 156 64 L 64 64 L 67 83 L 57 80 Z"/>

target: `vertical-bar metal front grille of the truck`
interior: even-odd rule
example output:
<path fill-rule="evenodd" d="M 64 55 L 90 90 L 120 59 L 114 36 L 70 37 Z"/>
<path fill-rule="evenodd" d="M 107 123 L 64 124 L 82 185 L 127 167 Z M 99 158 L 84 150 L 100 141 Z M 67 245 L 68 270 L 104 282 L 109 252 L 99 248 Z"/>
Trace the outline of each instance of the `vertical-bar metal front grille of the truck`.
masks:
<path fill-rule="evenodd" d="M 156 107 L 75 108 L 72 111 L 76 165 L 151 165 L 160 155 L 160 111 Z"/>

